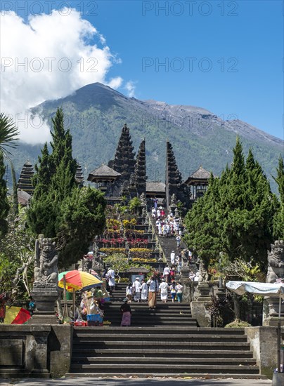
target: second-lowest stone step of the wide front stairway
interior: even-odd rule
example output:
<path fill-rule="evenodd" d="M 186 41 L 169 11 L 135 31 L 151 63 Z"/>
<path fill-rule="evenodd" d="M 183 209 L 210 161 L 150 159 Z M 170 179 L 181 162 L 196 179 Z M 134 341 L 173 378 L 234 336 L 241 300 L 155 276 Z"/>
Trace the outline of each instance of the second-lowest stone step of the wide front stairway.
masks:
<path fill-rule="evenodd" d="M 241 367 L 241 368 L 240 368 Z M 84 372 L 92 373 L 104 373 L 106 370 L 110 370 L 110 364 L 72 364 L 71 366 L 72 373 Z M 113 364 L 111 363 L 112 372 L 125 371 L 125 364 Z M 144 373 L 145 366 L 144 364 L 131 364 L 127 365 L 127 371 L 130 373 Z M 164 366 L 160 364 L 147 364 L 147 371 L 152 371 L 154 373 L 164 373 Z M 207 365 L 207 364 L 178 364 L 175 363 L 174 366 L 169 366 L 167 368 L 169 373 L 227 373 L 227 374 L 259 374 L 258 366 L 233 366 L 233 365 Z"/>

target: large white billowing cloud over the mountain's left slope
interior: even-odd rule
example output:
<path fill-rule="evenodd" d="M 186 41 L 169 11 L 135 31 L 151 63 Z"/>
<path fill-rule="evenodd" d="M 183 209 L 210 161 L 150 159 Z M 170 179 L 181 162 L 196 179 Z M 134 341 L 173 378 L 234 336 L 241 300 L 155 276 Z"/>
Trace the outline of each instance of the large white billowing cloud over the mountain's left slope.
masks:
<path fill-rule="evenodd" d="M 86 84 L 108 84 L 108 70 L 120 60 L 75 9 L 31 15 L 26 23 L 12 11 L 0 18 L 1 112 L 12 114 L 16 123 L 19 114 L 21 140 L 43 143 L 49 140 L 49 128 L 38 128 L 27 109 Z M 121 84 L 120 76 L 109 81 L 110 87 Z"/>

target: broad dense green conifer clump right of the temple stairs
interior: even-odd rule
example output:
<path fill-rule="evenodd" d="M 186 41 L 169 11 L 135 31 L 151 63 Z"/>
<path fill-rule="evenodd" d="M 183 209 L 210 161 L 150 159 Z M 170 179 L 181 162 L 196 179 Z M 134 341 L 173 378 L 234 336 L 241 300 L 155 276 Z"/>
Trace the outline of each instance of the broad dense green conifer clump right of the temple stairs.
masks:
<path fill-rule="evenodd" d="M 202 199 L 186 216 L 186 242 L 208 264 L 219 252 L 266 266 L 266 250 L 272 241 L 276 197 L 261 166 L 250 150 L 247 160 L 237 138 L 233 164 L 220 178 L 210 178 Z"/>

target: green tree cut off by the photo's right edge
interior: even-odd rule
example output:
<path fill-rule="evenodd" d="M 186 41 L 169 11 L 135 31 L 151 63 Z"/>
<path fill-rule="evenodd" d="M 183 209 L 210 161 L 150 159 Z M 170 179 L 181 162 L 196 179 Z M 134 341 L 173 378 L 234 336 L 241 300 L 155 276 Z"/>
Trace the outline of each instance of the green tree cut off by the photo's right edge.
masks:
<path fill-rule="evenodd" d="M 277 175 L 274 180 L 278 184 L 278 192 L 280 196 L 280 205 L 273 218 L 273 237 L 276 240 L 284 239 L 284 162 L 280 156 L 278 160 Z"/>

